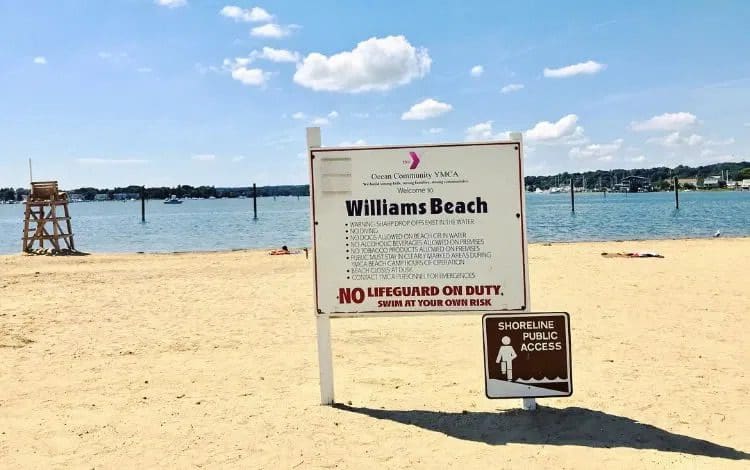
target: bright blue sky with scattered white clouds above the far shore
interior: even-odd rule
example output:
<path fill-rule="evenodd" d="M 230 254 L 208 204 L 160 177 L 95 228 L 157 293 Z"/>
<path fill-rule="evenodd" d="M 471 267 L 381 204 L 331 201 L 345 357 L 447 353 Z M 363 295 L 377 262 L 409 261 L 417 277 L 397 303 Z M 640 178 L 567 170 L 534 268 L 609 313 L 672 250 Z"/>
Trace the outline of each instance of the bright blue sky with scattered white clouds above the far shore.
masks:
<path fill-rule="evenodd" d="M 373 6 L 377 5 L 377 7 Z M 526 173 L 750 160 L 750 2 L 0 0 L 0 187 L 307 182 L 525 134 Z"/>

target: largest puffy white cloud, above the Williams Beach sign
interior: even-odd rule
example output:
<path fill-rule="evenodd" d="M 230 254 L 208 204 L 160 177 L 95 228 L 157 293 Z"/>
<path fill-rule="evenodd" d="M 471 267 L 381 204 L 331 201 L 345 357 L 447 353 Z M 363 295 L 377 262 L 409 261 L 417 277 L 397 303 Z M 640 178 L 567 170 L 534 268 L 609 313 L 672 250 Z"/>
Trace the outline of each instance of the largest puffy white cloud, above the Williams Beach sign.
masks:
<path fill-rule="evenodd" d="M 309 54 L 294 81 L 316 91 L 385 91 L 424 77 L 431 63 L 427 49 L 415 48 L 404 36 L 372 37 L 351 51 Z"/>

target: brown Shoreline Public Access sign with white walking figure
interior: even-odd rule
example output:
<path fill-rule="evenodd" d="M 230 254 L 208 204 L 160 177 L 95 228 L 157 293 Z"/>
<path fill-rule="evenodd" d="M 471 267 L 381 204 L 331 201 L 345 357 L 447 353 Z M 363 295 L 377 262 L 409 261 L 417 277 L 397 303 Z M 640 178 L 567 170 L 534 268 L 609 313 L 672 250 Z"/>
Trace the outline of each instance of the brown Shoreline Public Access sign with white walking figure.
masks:
<path fill-rule="evenodd" d="M 482 329 L 487 398 L 573 393 L 567 313 L 488 314 Z"/>

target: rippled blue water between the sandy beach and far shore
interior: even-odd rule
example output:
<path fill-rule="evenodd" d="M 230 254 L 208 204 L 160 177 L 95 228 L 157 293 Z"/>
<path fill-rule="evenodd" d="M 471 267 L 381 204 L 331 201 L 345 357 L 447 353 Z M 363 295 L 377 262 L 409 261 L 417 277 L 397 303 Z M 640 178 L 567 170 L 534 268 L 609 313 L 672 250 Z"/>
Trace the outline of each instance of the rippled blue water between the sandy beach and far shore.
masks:
<path fill-rule="evenodd" d="M 750 192 L 528 194 L 532 242 L 750 236 Z M 0 205 L 0 253 L 21 250 L 23 205 Z M 76 247 L 89 252 L 208 251 L 310 246 L 309 199 L 148 201 L 145 224 L 140 201 L 70 205 Z"/>

